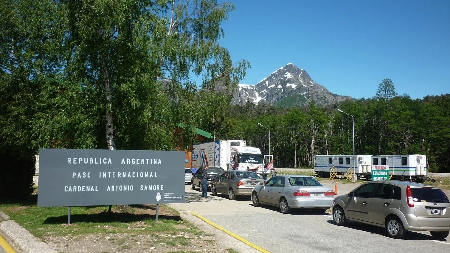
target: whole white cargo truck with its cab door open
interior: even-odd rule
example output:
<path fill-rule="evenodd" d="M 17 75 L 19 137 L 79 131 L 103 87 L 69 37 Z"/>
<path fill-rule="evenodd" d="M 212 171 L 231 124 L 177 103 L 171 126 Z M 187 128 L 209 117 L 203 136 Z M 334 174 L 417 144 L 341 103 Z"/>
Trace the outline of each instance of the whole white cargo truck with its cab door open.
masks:
<path fill-rule="evenodd" d="M 219 166 L 225 170 L 249 170 L 261 177 L 276 170 L 273 155 L 262 155 L 261 150 L 246 146 L 245 140 L 216 140 L 193 145 L 192 166 Z"/>

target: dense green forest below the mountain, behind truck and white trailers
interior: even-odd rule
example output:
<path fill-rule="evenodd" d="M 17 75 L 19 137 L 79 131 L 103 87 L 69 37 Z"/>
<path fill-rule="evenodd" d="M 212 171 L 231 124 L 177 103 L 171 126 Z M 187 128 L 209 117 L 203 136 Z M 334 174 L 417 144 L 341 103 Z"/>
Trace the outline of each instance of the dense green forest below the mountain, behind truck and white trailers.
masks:
<path fill-rule="evenodd" d="M 229 110 L 227 132 L 216 131 L 216 138 L 243 139 L 267 153 L 268 130 L 261 123 L 270 129 L 277 167 L 312 167 L 314 155 L 353 153 L 352 117 L 337 108 L 354 117 L 355 154 L 423 154 L 429 171 L 450 172 L 450 94 L 374 97 L 327 108 L 248 103 Z"/>

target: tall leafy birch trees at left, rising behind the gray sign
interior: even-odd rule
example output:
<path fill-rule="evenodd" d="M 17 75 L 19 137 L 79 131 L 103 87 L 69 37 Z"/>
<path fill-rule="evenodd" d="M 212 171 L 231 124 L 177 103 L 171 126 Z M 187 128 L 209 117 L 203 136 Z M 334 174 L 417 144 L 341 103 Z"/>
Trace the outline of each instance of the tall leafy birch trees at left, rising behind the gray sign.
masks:
<path fill-rule="evenodd" d="M 217 120 L 225 131 L 249 66 L 219 45 L 233 9 L 216 0 L 1 1 L 0 154 L 172 150 L 195 126 Z"/>

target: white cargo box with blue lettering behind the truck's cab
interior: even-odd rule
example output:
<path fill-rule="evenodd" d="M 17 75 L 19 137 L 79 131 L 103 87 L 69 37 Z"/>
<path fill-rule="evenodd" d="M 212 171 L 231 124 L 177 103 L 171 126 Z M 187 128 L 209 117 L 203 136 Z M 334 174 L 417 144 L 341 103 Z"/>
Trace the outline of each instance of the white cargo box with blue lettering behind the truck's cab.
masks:
<path fill-rule="evenodd" d="M 246 145 L 245 140 L 216 140 L 192 145 L 192 166 L 216 166 L 229 169 L 231 148 Z"/>

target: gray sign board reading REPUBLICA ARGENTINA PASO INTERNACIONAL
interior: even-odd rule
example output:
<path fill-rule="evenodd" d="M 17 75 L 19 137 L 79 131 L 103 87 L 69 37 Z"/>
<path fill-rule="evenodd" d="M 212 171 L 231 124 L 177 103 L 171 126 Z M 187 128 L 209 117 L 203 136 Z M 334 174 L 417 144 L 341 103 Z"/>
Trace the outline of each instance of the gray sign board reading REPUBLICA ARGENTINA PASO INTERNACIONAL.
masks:
<path fill-rule="evenodd" d="M 184 152 L 40 149 L 38 206 L 184 203 Z"/>

